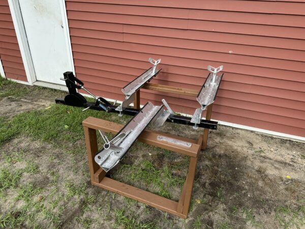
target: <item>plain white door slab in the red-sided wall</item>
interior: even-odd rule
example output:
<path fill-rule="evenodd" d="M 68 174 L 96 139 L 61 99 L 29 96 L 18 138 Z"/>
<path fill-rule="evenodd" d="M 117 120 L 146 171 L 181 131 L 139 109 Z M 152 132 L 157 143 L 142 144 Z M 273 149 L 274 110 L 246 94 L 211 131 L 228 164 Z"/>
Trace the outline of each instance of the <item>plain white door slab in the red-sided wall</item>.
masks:
<path fill-rule="evenodd" d="M 73 68 L 60 1 L 19 0 L 36 79 L 55 84 Z"/>

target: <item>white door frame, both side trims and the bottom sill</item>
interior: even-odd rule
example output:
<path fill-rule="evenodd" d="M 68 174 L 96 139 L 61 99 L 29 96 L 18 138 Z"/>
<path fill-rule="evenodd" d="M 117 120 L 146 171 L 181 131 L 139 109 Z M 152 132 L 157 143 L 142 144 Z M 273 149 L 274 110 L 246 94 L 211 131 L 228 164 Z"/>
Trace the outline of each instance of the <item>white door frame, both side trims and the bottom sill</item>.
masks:
<path fill-rule="evenodd" d="M 22 20 L 21 10 L 19 6 L 19 0 L 8 0 L 9 7 L 11 10 L 11 15 L 13 18 L 13 23 L 17 35 L 17 40 L 21 52 L 21 57 L 27 77 L 27 81 L 30 84 L 33 84 L 37 82 L 37 84 L 48 87 L 48 88 L 55 88 L 55 89 L 63 89 L 61 85 L 53 84 L 53 83 L 47 83 L 47 82 L 39 82 L 36 79 L 35 69 L 33 65 L 32 55 L 31 51 L 29 50 L 27 37 L 25 33 L 25 28 Z M 75 74 L 74 69 L 74 61 L 73 61 L 73 54 L 72 54 L 72 46 L 71 46 L 71 40 L 70 40 L 70 31 L 69 31 L 69 24 L 68 24 L 68 17 L 67 17 L 67 10 L 66 10 L 66 3 L 65 0 L 60 0 L 60 11 L 62 12 L 62 19 L 63 19 L 63 26 L 66 32 L 66 43 L 67 43 L 67 50 L 69 52 L 70 57 L 70 63 L 71 63 L 71 69 L 73 70 L 73 73 Z M 36 84 L 36 83 L 35 83 Z"/>

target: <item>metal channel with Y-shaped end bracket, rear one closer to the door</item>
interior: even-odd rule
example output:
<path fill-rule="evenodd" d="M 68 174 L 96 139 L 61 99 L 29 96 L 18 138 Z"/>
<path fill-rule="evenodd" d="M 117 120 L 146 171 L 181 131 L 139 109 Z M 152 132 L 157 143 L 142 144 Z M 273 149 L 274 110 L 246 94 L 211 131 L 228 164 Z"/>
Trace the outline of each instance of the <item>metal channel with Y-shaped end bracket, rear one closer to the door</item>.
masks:
<path fill-rule="evenodd" d="M 140 88 L 143 87 L 143 85 L 146 82 L 149 82 L 152 78 L 158 75 L 158 73 L 161 71 L 157 70 L 157 65 L 160 64 L 161 59 L 154 60 L 152 58 L 149 58 L 148 61 L 153 64 L 154 66 L 147 69 L 144 73 L 142 73 L 140 76 L 135 78 L 133 81 L 128 83 L 123 89 L 122 92 L 125 95 L 125 100 L 121 105 L 119 105 L 115 110 L 119 111 L 119 116 L 122 116 L 122 111 L 128 107 L 135 98 L 135 93 L 140 90 Z"/>

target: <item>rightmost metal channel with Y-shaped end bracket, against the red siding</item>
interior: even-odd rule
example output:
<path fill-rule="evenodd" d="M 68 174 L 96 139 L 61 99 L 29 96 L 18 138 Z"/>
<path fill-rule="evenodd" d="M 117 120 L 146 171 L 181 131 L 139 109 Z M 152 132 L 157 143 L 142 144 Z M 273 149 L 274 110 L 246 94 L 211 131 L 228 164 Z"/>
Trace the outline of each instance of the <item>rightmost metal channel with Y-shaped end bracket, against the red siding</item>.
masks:
<path fill-rule="evenodd" d="M 209 73 L 206 77 L 205 82 L 196 98 L 201 107 L 195 110 L 195 113 L 191 119 L 191 123 L 195 124 L 193 129 L 198 129 L 197 125 L 201 122 L 202 111 L 205 110 L 208 105 L 214 103 L 223 77 L 223 74 L 217 75 L 218 72 L 223 70 L 223 66 L 214 68 L 209 65 L 207 66 L 207 70 L 211 73 Z"/>

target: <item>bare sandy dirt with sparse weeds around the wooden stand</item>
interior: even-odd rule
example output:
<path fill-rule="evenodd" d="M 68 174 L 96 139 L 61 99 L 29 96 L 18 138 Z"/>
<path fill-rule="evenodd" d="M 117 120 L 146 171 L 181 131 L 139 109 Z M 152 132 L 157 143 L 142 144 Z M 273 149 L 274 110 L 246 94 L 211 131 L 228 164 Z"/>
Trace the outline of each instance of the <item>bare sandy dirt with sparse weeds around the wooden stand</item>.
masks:
<path fill-rule="evenodd" d="M 0 116 L 10 120 L 20 112 L 54 103 L 54 94 L 47 90 L 40 93 L 47 95 L 2 99 Z M 194 139 L 198 136 L 191 127 L 170 123 L 160 131 Z M 16 227 L 305 228 L 305 144 L 301 142 L 221 125 L 210 131 L 208 147 L 200 153 L 197 164 L 186 220 L 92 186 L 84 141 L 75 144 L 81 153 L 23 135 L 0 147 L 0 168 L 16 173 L 29 162 L 38 166 L 37 173 L 23 172 L 18 185 L 3 192 L 0 220 L 9 213 L 18 219 L 27 206 L 22 213 L 26 217 L 18 219 Z M 141 166 L 143 160 L 160 170 L 169 166 L 172 176 L 185 179 L 186 157 L 138 143 L 109 176 L 158 192 L 143 180 L 129 179 L 132 166 Z M 37 190 L 29 202 L 20 198 L 21 187 L 28 184 Z M 181 187 L 168 187 L 172 199 L 178 198 Z"/>

